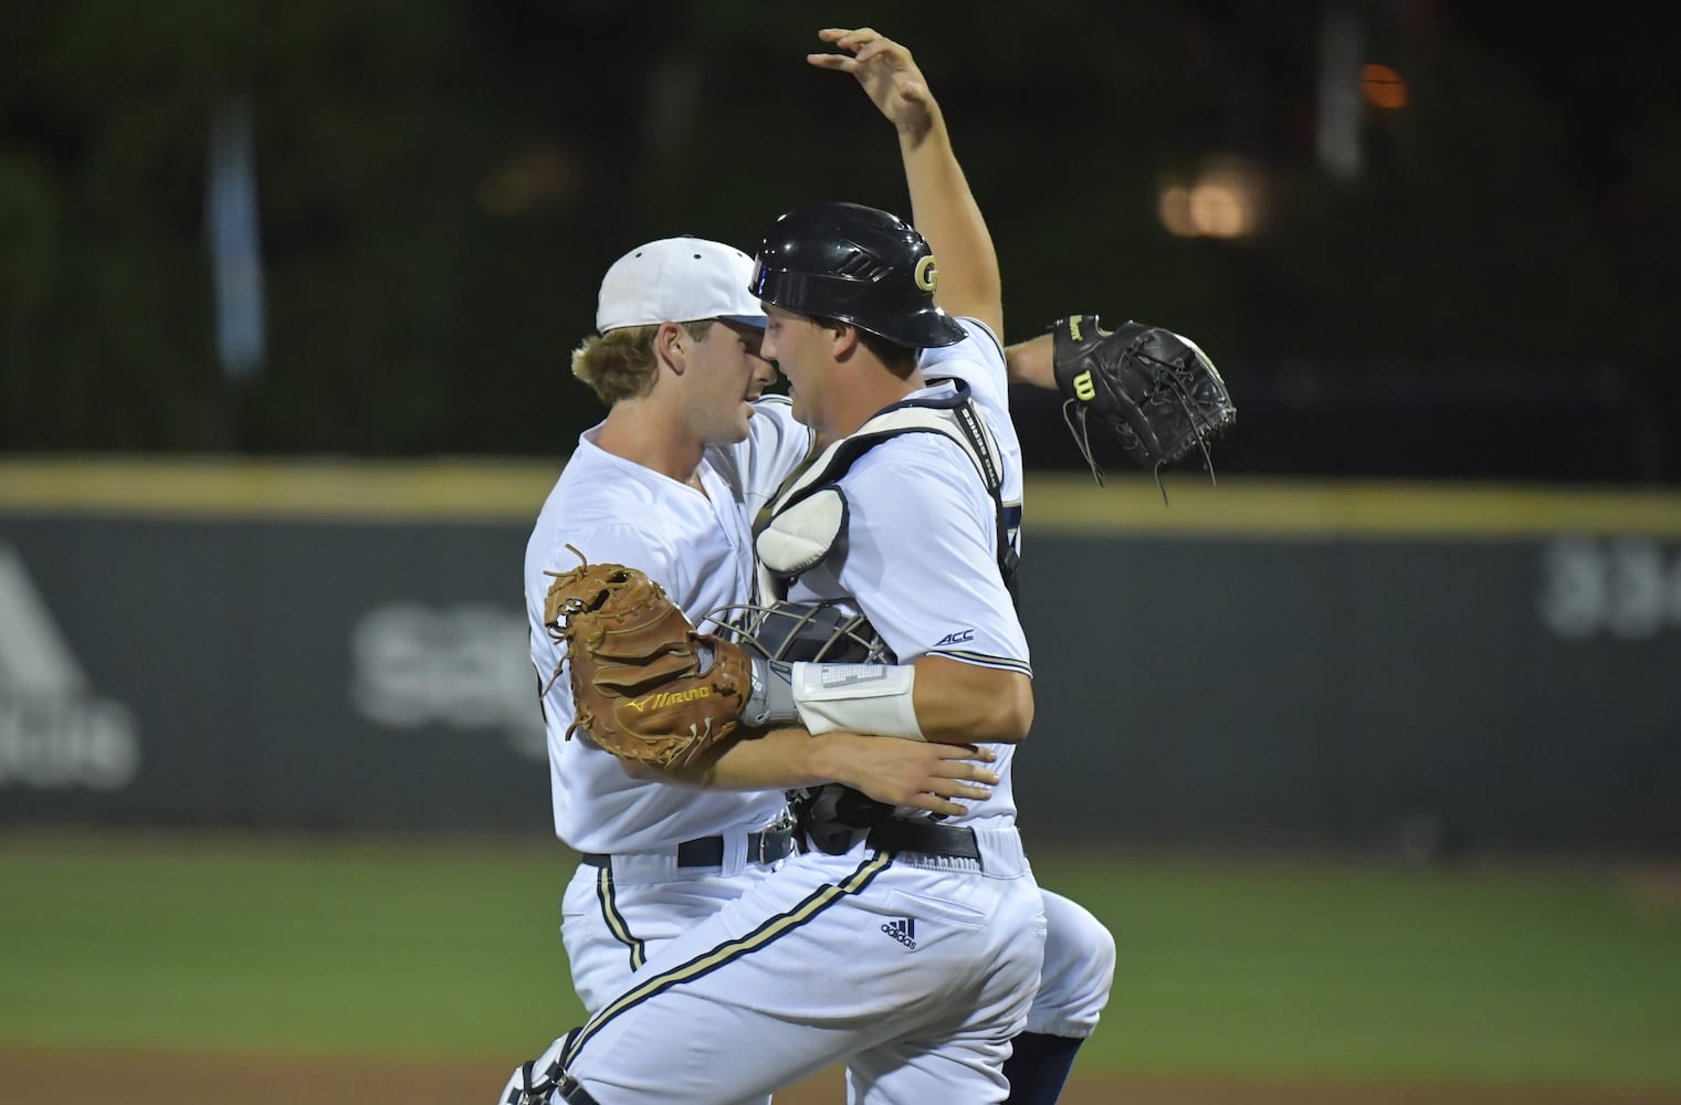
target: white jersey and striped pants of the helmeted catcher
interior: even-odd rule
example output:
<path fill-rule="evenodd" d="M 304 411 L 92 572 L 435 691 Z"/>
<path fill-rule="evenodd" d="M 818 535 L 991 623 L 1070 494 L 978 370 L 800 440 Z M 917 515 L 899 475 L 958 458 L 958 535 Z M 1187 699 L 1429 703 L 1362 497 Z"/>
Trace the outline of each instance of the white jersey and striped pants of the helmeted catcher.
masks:
<path fill-rule="evenodd" d="M 1004 394 L 985 328 L 972 326 L 940 370 L 992 373 Z M 1019 501 L 1019 452 L 1007 468 L 1005 494 Z M 840 486 L 844 563 L 829 577 L 809 572 L 792 599 L 854 597 L 901 663 L 938 653 L 1027 671 L 997 565 L 999 511 L 962 446 L 903 434 Z M 1007 777 L 1002 752 L 993 769 Z M 945 824 L 973 829 L 980 861 L 864 839 L 842 854 L 793 856 L 666 944 L 545 1061 L 558 1058 L 619 1105 L 721 1105 L 839 1061 L 861 1103 L 1002 1102 L 1009 1039 L 1039 986 L 1044 905 L 1009 785 Z"/>

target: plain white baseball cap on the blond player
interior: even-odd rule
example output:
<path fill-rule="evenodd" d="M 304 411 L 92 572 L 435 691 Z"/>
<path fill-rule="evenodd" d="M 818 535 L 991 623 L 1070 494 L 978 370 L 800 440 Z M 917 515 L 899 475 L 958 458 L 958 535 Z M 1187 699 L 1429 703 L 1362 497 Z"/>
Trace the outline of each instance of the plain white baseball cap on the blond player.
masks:
<path fill-rule="evenodd" d="M 753 259 L 703 237 L 664 237 L 637 246 L 607 269 L 595 330 L 723 318 L 763 326 L 765 309 L 748 291 Z"/>

